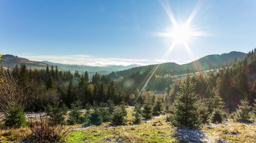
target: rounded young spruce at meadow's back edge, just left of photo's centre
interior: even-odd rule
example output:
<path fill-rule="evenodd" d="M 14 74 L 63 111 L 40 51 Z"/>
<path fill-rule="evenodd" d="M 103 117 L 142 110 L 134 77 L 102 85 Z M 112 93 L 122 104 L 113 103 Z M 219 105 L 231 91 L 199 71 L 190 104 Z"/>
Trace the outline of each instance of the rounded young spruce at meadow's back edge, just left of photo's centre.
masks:
<path fill-rule="evenodd" d="M 126 119 L 125 119 L 126 115 L 127 115 L 126 108 L 124 108 L 123 105 L 117 106 L 112 114 L 110 121 L 115 126 L 124 125 L 126 123 Z"/>

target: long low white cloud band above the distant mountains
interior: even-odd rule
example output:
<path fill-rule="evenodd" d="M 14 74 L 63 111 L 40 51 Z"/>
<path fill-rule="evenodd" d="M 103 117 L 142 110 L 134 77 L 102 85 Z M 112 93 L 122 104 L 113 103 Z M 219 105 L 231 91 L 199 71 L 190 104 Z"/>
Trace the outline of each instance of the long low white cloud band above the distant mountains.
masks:
<path fill-rule="evenodd" d="M 152 65 L 158 63 L 168 63 L 174 61 L 167 60 L 148 60 L 148 59 L 130 59 L 130 58 L 97 58 L 90 55 L 63 55 L 63 56 L 46 56 L 33 54 L 20 54 L 22 58 L 27 58 L 31 61 L 49 61 L 52 63 L 75 64 L 75 65 L 90 65 L 90 66 L 107 66 L 107 65 Z"/>

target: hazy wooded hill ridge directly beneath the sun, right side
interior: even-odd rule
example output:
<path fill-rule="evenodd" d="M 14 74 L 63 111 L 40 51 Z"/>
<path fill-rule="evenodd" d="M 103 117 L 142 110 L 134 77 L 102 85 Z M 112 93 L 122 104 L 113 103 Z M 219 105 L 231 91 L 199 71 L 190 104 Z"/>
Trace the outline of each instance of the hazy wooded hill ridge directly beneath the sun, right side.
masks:
<path fill-rule="evenodd" d="M 196 61 L 191 63 L 178 65 L 177 63 L 162 63 L 159 65 L 148 65 L 148 66 L 141 66 L 141 67 L 133 67 L 131 69 L 127 69 L 124 71 L 119 72 L 112 72 L 110 74 L 113 80 L 117 80 L 118 78 L 126 75 L 130 75 L 133 73 L 144 73 L 148 69 L 156 69 L 155 74 L 157 75 L 164 75 L 164 74 L 171 74 L 171 76 L 186 74 L 186 69 L 190 68 L 193 69 L 191 72 L 198 72 L 200 69 L 207 70 L 207 69 L 216 69 L 220 68 L 222 64 L 228 64 L 229 66 L 238 58 L 244 58 L 247 54 L 243 52 L 229 52 L 225 54 L 213 54 L 204 56 Z M 194 71 L 197 70 L 197 71 Z"/>

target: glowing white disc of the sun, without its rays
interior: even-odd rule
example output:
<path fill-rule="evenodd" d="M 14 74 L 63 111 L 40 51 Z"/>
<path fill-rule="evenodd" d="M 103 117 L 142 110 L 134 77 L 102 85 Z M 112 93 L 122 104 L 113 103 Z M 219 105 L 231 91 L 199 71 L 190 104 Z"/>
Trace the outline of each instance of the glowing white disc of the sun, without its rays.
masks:
<path fill-rule="evenodd" d="M 189 26 L 176 25 L 170 35 L 173 37 L 174 44 L 185 45 L 191 36 L 191 30 L 189 29 Z"/>

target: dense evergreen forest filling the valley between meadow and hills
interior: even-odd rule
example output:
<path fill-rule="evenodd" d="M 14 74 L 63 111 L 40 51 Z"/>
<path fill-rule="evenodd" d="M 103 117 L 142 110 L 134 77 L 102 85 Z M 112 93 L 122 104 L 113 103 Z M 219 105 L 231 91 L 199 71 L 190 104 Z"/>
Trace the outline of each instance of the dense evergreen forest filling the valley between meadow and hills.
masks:
<path fill-rule="evenodd" d="M 49 117 L 49 124 L 44 122 L 49 128 L 56 129 L 59 124 L 99 126 L 108 121 L 119 126 L 127 122 L 125 105 L 134 106 L 132 124 L 166 113 L 166 121 L 171 121 L 172 126 L 192 128 L 206 122 L 220 123 L 227 117 L 240 122 L 256 121 L 256 49 L 233 63 L 214 65 L 212 67 L 219 69 L 204 74 L 199 71 L 211 66 L 176 70 L 170 69 L 170 65 L 181 66 L 166 63 L 110 75 L 96 72 L 91 79 L 87 71 L 79 74 L 75 70 L 72 74 L 59 71 L 57 66 L 47 65 L 45 69 L 28 69 L 25 64 L 1 67 L 2 124 L 6 128 L 19 128 L 25 126 L 24 111 L 45 111 L 47 117 L 40 120 L 43 123 Z M 112 80 L 117 74 L 123 76 Z M 87 109 L 84 115 L 82 108 Z M 68 110 L 66 119 L 64 115 Z M 29 126 L 32 131 L 39 131 L 36 128 L 43 124 L 31 122 Z"/>

